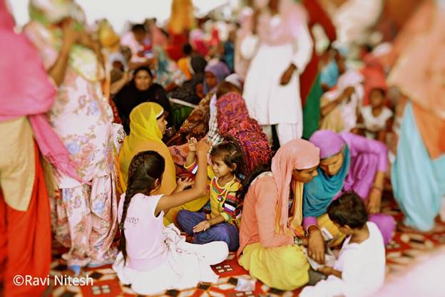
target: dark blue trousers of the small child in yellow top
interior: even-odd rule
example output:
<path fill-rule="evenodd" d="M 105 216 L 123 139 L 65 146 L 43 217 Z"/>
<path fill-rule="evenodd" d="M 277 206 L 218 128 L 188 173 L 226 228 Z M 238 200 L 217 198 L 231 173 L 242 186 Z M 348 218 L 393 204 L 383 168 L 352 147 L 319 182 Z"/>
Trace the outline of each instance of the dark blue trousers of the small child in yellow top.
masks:
<path fill-rule="evenodd" d="M 240 247 L 240 233 L 236 226 L 229 223 L 220 223 L 211 226 L 206 231 L 193 233 L 193 227 L 205 221 L 204 212 L 190 212 L 181 210 L 178 212 L 178 224 L 188 235 L 193 235 L 195 244 L 208 244 L 213 241 L 224 241 L 230 251 L 236 251 Z"/>

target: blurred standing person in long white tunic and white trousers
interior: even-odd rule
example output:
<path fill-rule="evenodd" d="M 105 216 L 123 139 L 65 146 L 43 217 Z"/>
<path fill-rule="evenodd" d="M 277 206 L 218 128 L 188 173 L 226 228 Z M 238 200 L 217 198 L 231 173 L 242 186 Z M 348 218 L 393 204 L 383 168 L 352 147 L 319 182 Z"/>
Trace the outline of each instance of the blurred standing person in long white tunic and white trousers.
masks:
<path fill-rule="evenodd" d="M 304 9 L 295 1 L 268 1 L 256 8 L 252 32 L 241 42 L 241 55 L 252 57 L 242 95 L 250 115 L 270 141 L 272 125 L 281 145 L 302 137 L 299 75 L 312 53 Z"/>

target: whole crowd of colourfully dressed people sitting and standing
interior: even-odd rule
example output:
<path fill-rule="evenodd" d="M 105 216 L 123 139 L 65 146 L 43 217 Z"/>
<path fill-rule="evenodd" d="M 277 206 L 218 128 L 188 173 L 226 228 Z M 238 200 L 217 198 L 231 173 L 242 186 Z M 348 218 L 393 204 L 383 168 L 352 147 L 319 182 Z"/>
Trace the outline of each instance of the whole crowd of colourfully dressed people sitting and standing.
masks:
<path fill-rule="evenodd" d="M 119 36 L 73 0 L 30 0 L 18 33 L 0 0 L 5 296 L 41 296 L 13 278 L 46 277 L 53 239 L 139 294 L 215 282 L 233 251 L 273 288 L 373 296 L 383 192 L 399 228 L 445 219 L 444 1 L 392 31 L 391 1 L 247 2 L 227 22 L 173 0 Z"/>

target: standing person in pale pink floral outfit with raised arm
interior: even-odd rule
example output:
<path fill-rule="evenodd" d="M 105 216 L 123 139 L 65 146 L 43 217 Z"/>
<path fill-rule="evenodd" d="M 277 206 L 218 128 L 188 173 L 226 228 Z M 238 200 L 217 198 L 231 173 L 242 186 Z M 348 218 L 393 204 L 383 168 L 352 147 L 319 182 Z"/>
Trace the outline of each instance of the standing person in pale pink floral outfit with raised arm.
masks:
<path fill-rule="evenodd" d="M 108 264 L 117 254 L 113 113 L 101 89 L 100 48 L 83 30 L 81 8 L 68 0 L 32 0 L 29 9 L 24 32 L 58 85 L 48 119 L 82 181 L 56 168 L 61 190 L 54 201 L 56 239 L 70 248 L 62 257 L 79 273 L 83 266 Z"/>

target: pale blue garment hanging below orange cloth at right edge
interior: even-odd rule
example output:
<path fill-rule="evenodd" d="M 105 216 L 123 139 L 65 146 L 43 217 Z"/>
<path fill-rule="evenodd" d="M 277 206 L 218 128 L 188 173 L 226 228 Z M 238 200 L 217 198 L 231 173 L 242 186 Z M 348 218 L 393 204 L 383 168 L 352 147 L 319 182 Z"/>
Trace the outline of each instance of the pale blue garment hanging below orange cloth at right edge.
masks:
<path fill-rule="evenodd" d="M 429 231 L 445 194 L 445 155 L 436 160 L 429 157 L 411 103 L 406 105 L 400 134 L 392 167 L 394 197 L 406 216 L 406 226 Z"/>

